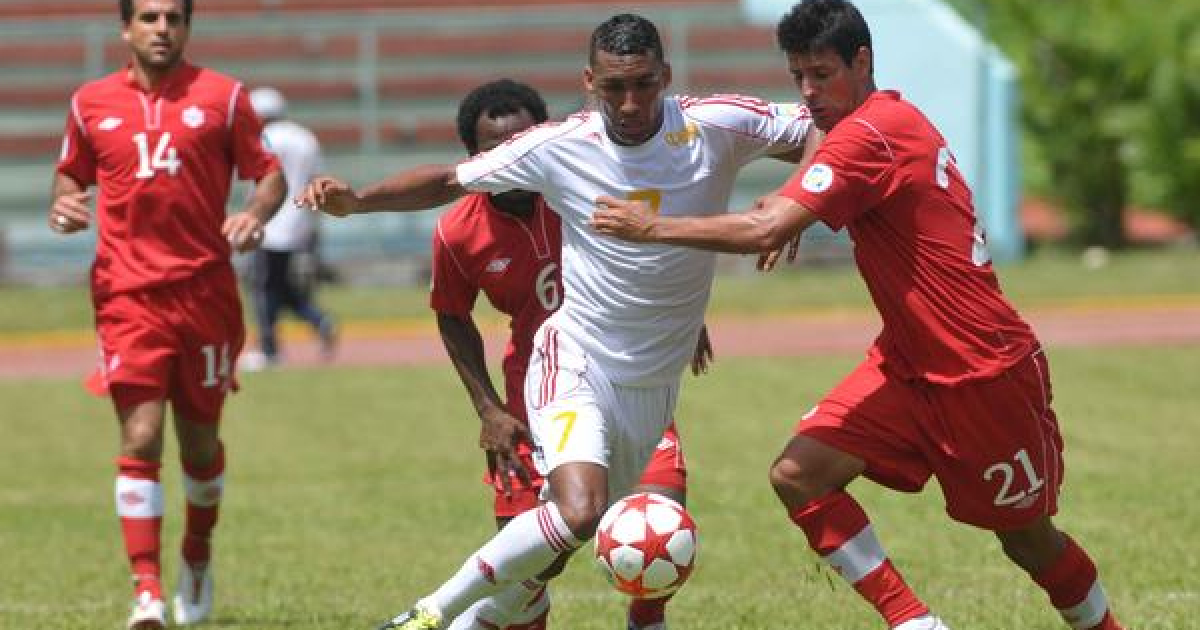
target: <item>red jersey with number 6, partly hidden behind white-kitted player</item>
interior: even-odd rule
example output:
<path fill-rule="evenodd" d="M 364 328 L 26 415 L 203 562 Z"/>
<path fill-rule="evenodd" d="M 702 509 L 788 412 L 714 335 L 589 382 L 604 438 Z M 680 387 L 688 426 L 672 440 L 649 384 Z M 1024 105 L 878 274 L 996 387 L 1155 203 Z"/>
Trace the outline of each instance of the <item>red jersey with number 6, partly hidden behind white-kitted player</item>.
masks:
<path fill-rule="evenodd" d="M 522 391 L 534 332 L 563 302 L 562 241 L 558 215 L 540 196 L 534 212 L 522 218 L 498 210 L 486 193 L 469 194 L 442 215 L 433 232 L 430 306 L 466 316 L 482 290 L 511 318 L 503 362 L 509 398 Z M 524 418 L 524 406 L 514 407 Z"/>

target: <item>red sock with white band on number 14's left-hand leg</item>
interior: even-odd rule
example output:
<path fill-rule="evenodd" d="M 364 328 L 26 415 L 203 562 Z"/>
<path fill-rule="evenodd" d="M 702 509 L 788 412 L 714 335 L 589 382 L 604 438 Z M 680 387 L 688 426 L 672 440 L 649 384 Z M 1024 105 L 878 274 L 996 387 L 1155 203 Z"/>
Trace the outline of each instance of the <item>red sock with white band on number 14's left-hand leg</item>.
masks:
<path fill-rule="evenodd" d="M 136 457 L 116 458 L 116 516 L 121 521 L 125 553 L 133 570 L 134 592 L 149 590 L 162 598 L 160 532 L 162 485 L 158 462 Z"/>

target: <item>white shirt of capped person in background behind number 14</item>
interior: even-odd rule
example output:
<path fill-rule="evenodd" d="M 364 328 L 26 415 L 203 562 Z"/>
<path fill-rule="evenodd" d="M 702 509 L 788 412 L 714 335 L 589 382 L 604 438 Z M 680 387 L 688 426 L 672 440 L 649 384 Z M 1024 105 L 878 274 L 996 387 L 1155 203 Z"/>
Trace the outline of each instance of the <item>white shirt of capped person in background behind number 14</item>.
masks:
<path fill-rule="evenodd" d="M 308 247 L 317 229 L 317 214 L 298 206 L 292 197 L 298 194 L 320 170 L 320 144 L 317 137 L 290 120 L 276 120 L 263 127 L 264 144 L 283 168 L 288 194 L 263 233 L 264 250 L 296 252 Z"/>

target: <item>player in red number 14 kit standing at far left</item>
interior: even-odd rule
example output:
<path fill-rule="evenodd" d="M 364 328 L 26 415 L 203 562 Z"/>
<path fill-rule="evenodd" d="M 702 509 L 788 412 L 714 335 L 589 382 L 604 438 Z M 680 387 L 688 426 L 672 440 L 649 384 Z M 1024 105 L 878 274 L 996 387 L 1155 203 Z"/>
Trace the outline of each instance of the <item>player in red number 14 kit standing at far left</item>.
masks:
<path fill-rule="evenodd" d="M 184 60 L 191 0 L 121 0 L 120 14 L 131 61 L 71 97 L 48 220 L 60 234 L 97 226 L 96 383 L 112 395 L 121 432 L 115 498 L 134 581 L 128 628 L 163 628 L 167 404 L 187 499 L 174 620 L 187 624 L 211 608 L 210 536 L 224 479 L 218 421 L 245 337 L 229 258 L 258 246 L 286 186 L 241 84 Z M 234 169 L 258 185 L 244 211 L 226 216 Z"/>

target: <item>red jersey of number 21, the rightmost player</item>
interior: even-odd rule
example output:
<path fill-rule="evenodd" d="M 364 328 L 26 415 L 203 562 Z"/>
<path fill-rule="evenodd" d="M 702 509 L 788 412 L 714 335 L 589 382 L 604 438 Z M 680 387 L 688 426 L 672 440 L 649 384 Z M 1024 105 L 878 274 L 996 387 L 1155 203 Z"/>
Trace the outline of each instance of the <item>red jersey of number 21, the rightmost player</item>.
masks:
<path fill-rule="evenodd" d="M 877 91 L 838 122 L 780 194 L 848 229 L 883 319 L 872 352 L 894 373 L 985 378 L 1037 344 L 1000 290 L 946 140 L 900 94 Z"/>

